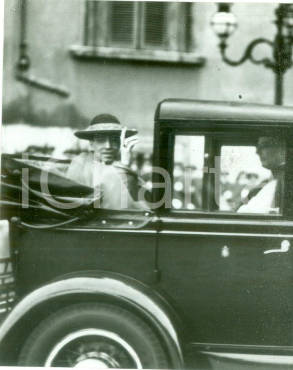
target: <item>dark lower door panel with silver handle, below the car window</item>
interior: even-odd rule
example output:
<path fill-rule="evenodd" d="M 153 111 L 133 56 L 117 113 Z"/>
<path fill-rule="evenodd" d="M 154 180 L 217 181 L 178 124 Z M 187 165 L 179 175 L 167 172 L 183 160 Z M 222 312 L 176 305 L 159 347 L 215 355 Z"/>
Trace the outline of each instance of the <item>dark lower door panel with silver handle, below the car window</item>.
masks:
<path fill-rule="evenodd" d="M 212 222 L 201 231 L 185 221 L 162 220 L 159 287 L 184 308 L 193 341 L 292 345 L 293 252 L 264 254 L 280 250 L 284 240 L 293 245 L 288 229 L 265 233 L 254 226 L 252 233 L 238 221 L 241 231 L 224 223 L 216 230 Z"/>

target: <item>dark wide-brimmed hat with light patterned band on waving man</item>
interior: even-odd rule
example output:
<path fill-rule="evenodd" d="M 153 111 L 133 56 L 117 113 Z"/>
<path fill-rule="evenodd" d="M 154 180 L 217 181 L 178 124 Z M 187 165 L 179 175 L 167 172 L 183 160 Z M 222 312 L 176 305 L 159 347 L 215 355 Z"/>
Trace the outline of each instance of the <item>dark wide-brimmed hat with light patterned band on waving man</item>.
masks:
<path fill-rule="evenodd" d="M 79 139 L 93 140 L 95 135 L 107 133 L 121 134 L 124 127 L 120 124 L 119 120 L 112 114 L 99 114 L 94 117 L 90 123 L 90 126 L 81 131 L 75 132 L 75 136 Z M 137 133 L 136 129 L 126 129 L 125 137 L 133 136 Z"/>

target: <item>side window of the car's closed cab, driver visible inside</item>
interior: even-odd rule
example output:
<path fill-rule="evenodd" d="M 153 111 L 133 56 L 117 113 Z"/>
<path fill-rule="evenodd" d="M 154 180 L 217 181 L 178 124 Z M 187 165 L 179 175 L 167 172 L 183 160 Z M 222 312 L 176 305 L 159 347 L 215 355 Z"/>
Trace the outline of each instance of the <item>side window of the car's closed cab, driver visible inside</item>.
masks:
<path fill-rule="evenodd" d="M 280 215 L 285 155 L 278 137 L 176 135 L 172 207 Z"/>

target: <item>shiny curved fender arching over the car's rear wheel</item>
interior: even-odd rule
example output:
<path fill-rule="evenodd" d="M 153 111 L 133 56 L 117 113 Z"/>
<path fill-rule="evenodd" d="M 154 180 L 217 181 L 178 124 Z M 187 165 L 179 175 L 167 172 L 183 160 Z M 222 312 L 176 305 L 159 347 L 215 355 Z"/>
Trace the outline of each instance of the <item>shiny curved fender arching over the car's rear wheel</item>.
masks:
<path fill-rule="evenodd" d="M 129 277 L 107 272 L 68 274 L 36 289 L 13 308 L 0 326 L 1 341 L 17 323 L 37 306 L 61 297 L 103 295 L 124 301 L 151 321 L 163 338 L 175 368 L 183 367 L 179 331 L 182 322 L 172 306 L 151 287 Z"/>

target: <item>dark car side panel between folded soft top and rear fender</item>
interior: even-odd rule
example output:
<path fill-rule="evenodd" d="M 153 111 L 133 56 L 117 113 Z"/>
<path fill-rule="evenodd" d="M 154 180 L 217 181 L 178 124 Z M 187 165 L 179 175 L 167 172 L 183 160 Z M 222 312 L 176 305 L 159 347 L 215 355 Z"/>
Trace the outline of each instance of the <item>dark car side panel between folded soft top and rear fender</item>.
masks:
<path fill-rule="evenodd" d="M 55 277 L 81 270 L 112 271 L 145 283 L 154 280 L 156 231 L 19 228 L 16 285 L 24 296 Z"/>

